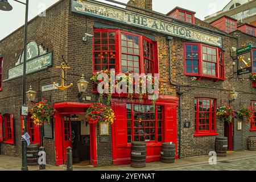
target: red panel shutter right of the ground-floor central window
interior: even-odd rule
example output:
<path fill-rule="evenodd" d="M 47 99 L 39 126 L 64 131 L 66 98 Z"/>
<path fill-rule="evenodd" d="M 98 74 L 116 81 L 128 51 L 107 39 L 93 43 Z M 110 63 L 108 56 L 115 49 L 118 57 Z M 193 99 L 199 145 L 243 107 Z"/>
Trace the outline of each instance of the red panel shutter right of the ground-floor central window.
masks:
<path fill-rule="evenodd" d="M 165 106 L 164 141 L 176 143 L 176 105 Z"/>

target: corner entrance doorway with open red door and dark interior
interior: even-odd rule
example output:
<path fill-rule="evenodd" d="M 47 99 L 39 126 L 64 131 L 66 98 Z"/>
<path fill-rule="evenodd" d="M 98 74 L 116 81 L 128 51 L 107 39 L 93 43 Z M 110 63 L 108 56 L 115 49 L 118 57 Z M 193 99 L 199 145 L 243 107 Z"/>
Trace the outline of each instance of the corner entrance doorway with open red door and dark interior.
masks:
<path fill-rule="evenodd" d="M 67 163 L 67 147 L 72 147 L 73 164 L 90 164 L 90 129 L 82 114 L 63 114 L 63 159 Z"/>

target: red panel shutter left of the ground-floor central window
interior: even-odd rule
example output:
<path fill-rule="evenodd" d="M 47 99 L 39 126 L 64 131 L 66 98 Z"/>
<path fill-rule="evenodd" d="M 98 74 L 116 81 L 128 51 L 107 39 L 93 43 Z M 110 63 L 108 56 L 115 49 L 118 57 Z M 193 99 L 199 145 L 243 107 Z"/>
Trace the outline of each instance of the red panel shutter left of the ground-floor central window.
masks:
<path fill-rule="evenodd" d="M 127 146 L 126 103 L 115 102 L 115 147 Z"/>

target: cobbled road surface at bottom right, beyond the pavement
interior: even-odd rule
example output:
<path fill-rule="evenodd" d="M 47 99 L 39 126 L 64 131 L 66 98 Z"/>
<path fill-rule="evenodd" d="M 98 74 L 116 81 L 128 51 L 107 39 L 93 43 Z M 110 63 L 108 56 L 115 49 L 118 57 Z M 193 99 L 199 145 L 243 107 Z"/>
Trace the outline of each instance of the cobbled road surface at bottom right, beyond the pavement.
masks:
<path fill-rule="evenodd" d="M 160 169 L 160 171 L 256 171 L 256 156 L 252 158 L 224 160 L 217 164 Z"/>

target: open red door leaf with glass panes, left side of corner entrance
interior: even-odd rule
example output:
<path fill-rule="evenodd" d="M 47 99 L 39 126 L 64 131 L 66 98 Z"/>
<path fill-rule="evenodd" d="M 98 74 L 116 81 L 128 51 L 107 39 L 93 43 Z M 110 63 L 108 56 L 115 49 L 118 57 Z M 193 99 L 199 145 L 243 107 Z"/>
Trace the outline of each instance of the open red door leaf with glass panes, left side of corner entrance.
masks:
<path fill-rule="evenodd" d="M 63 135 L 63 159 L 64 164 L 67 162 L 67 147 L 72 147 L 71 139 L 71 119 L 70 115 L 63 115 L 62 117 L 62 135 Z"/>

